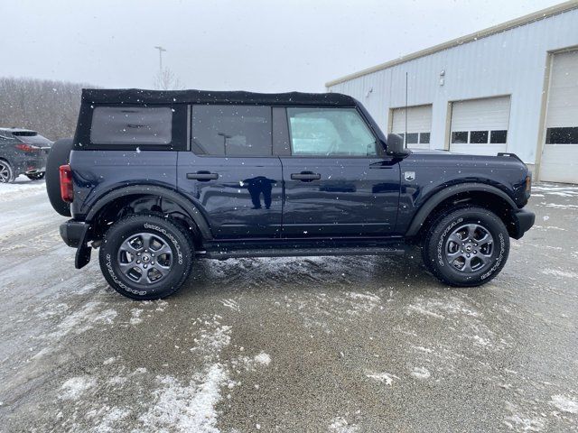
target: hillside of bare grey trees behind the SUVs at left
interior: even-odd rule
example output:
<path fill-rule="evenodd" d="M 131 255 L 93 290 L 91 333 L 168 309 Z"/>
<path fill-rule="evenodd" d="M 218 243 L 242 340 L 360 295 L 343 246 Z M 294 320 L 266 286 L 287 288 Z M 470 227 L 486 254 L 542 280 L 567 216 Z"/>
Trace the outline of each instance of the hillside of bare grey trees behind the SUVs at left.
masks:
<path fill-rule="evenodd" d="M 0 78 L 0 127 L 38 131 L 51 140 L 71 137 L 79 115 L 80 90 L 94 87 L 33 78 Z"/>

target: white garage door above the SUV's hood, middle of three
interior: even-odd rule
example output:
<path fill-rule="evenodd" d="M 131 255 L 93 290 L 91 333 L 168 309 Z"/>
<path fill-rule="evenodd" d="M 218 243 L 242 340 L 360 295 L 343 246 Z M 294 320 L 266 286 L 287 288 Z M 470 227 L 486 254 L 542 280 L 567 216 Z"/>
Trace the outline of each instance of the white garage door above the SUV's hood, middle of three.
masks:
<path fill-rule="evenodd" d="M 452 103 L 450 150 L 471 155 L 506 152 L 509 97 L 488 97 Z"/>

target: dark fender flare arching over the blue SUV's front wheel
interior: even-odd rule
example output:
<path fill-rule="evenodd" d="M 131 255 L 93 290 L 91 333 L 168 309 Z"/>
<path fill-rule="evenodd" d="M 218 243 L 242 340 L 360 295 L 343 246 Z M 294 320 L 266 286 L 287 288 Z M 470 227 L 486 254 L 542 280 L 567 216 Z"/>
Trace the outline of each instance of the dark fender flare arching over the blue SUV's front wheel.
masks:
<path fill-rule="evenodd" d="M 442 189 L 441 191 L 436 192 L 433 194 L 432 197 L 428 198 L 425 203 L 419 208 L 416 212 L 414 219 L 412 219 L 409 228 L 406 231 L 406 236 L 411 237 L 417 235 L 420 228 L 424 225 L 425 219 L 432 213 L 433 209 L 443 202 L 446 198 L 450 198 L 456 194 L 461 192 L 471 192 L 471 191 L 481 191 L 481 192 L 488 192 L 499 198 L 504 199 L 508 205 L 511 207 L 512 210 L 517 210 L 517 205 L 501 189 L 493 187 L 491 185 L 485 185 L 483 183 L 461 183 L 459 185 L 453 185 L 452 187 L 448 187 Z"/>

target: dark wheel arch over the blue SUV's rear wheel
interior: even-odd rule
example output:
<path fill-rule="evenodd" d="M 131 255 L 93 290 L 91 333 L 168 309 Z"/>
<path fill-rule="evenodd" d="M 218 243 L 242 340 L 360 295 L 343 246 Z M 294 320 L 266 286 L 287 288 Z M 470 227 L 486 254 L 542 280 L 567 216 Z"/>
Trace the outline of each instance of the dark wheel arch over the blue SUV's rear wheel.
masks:
<path fill-rule="evenodd" d="M 212 239 L 210 226 L 199 207 L 177 191 L 159 186 L 133 185 L 114 189 L 90 207 L 86 221 L 97 226 L 109 225 L 112 218 L 126 215 L 126 207 L 174 214 L 189 224 L 196 240 Z"/>

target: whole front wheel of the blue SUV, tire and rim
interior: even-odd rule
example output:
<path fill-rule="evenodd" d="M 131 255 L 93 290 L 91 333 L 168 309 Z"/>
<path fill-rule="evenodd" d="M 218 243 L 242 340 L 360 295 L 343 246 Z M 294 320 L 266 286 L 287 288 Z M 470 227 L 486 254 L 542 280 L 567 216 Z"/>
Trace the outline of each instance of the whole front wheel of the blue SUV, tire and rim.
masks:
<path fill-rule="evenodd" d="M 482 207 L 461 207 L 433 222 L 422 255 L 428 269 L 452 286 L 480 286 L 508 259 L 509 235 L 498 216 Z"/>

